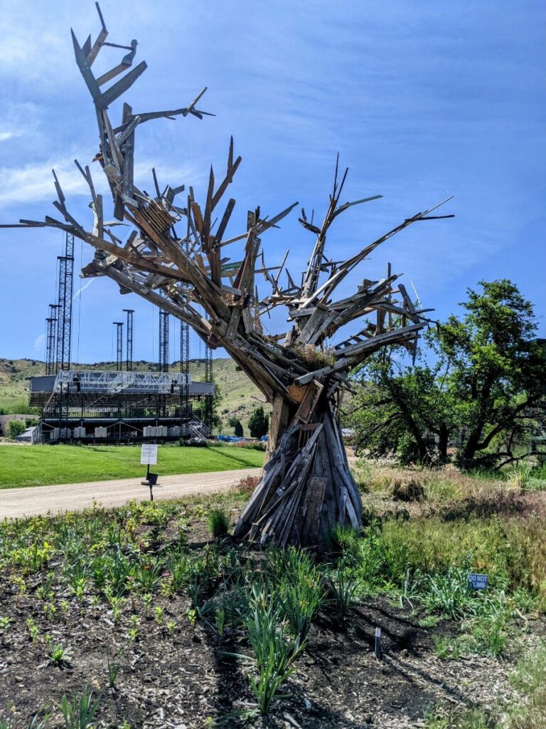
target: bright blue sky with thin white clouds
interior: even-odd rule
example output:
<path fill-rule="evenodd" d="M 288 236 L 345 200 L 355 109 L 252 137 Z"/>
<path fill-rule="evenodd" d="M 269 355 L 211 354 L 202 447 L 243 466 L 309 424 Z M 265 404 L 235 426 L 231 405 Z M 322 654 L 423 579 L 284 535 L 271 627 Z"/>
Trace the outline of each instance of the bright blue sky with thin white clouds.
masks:
<path fill-rule="evenodd" d="M 135 112 L 184 106 L 206 85 L 200 106 L 216 114 L 139 128 L 141 187 L 153 188 L 154 165 L 160 184 L 193 184 L 202 198 L 209 165 L 221 174 L 233 134 L 243 158 L 229 190 L 237 198 L 235 234 L 258 204 L 272 215 L 298 200 L 321 217 L 339 151 L 350 168 L 342 202 L 384 198 L 336 221 L 327 246 L 336 259 L 448 195 L 454 200 L 443 212 L 456 215 L 385 243 L 340 294 L 361 278 L 381 278 L 391 261 L 443 319 L 480 278 L 513 278 L 546 336 L 546 4 L 133 0 L 127 12 L 127 4 L 103 0 L 101 8 L 108 41 L 138 39 L 136 61 L 149 66 L 126 96 Z M 98 135 L 71 26 L 82 43 L 96 36 L 92 1 L 2 3 L 1 222 L 55 216 L 55 167 L 68 208 L 91 227 L 73 160 L 90 164 Z M 97 71 L 118 56 L 103 50 Z M 110 112 L 117 122 L 120 103 Z M 103 184 L 96 164 L 92 171 Z M 296 274 L 313 238 L 294 211 L 263 243 L 268 263 L 290 249 Z M 57 230 L 0 230 L 0 356 L 42 358 L 61 247 Z M 76 264 L 91 257 L 76 241 Z M 75 291 L 86 283 L 76 279 Z M 74 300 L 74 356 L 112 359 L 111 322 L 129 306 L 136 310 L 135 359 L 157 357 L 157 312 L 135 295 L 120 296 L 104 278 Z M 266 324 L 280 331 L 284 316 Z M 197 338 L 191 354 L 202 354 Z"/>

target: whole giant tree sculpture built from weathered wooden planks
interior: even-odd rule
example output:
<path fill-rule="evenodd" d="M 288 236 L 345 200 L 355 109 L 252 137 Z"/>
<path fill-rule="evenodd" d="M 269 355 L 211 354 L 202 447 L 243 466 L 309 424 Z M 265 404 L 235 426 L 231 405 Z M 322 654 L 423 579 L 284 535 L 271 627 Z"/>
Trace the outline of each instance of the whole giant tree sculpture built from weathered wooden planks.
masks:
<path fill-rule="evenodd" d="M 427 324 L 425 310 L 416 310 L 404 286 L 397 283 L 398 275 L 390 271 L 379 281 L 363 280 L 351 295 L 336 299 L 334 292 L 377 246 L 408 225 L 430 219 L 435 208 L 405 219 L 347 260 L 328 260 L 326 237 L 336 218 L 352 206 L 381 197 L 340 204 L 347 170 L 339 175 L 336 165 L 323 222 L 316 225 L 301 210 L 299 222 L 315 239 L 301 281 L 298 276 L 296 283 L 285 269 L 286 256 L 281 265 L 267 268 L 262 235 L 277 227 L 298 203 L 272 217 L 266 217 L 260 208 L 249 211 L 246 230 L 226 237 L 235 200 L 222 206 L 218 218 L 216 214 L 241 162 L 241 157 L 234 157 L 233 139 L 220 184 L 210 169 L 203 206 L 194 199 L 191 187 L 184 202 L 176 203 L 183 185 L 167 186 L 161 192 L 153 170 L 155 195 L 136 187 L 133 152 L 138 126 L 179 114 L 202 119 L 207 112 L 197 109 L 197 103 L 206 89 L 183 109 L 135 114 L 131 106 L 124 104 L 121 124 L 114 128 L 108 106 L 129 89 L 146 69 L 146 63 L 131 68 L 136 41 L 130 46 L 106 42 L 108 31 L 99 8 L 98 12 L 102 29 L 95 43 L 89 37 L 80 46 L 74 33 L 72 39 L 76 63 L 97 114 L 100 147 L 95 160 L 108 180 L 114 217 L 132 225 L 132 233 L 122 241 L 116 235 L 115 221 L 105 222 L 103 199 L 95 192 L 90 169 L 77 161 L 90 187 L 92 230 L 85 230 L 71 216 L 55 172 L 58 200 L 53 204 L 64 222 L 46 217 L 44 222 L 20 223 L 74 233 L 95 249 L 94 260 L 84 268 L 83 276 L 112 278 L 122 294 L 135 292 L 186 321 L 211 347 L 221 346 L 229 352 L 272 403 L 264 475 L 234 534 L 249 535 L 262 544 L 274 540 L 278 545 L 320 545 L 330 526 L 350 523 L 358 527 L 361 523 L 360 496 L 349 472 L 338 422 L 341 396 L 349 388 L 349 370 L 387 345 L 414 350 L 419 330 Z M 92 65 L 106 46 L 129 52 L 114 69 L 95 77 Z M 103 89 L 125 71 L 113 85 Z M 178 227 L 183 228 L 182 234 Z M 240 260 L 232 262 L 225 256 L 226 247 L 237 241 L 242 241 L 243 251 Z M 281 282 L 283 272 L 286 283 Z M 268 290 L 265 296 L 258 296 L 257 276 L 264 276 Z M 261 317 L 281 305 L 288 310 L 288 332 L 264 334 Z M 352 321 L 360 322 L 357 333 L 331 344 L 336 332 Z"/>

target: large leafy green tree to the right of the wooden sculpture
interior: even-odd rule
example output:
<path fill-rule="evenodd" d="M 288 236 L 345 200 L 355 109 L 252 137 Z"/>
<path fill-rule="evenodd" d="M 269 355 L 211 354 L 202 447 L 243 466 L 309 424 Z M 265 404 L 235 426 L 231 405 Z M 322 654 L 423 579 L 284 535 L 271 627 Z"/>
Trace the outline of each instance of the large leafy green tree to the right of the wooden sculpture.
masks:
<path fill-rule="evenodd" d="M 391 352 L 360 370 L 352 421 L 361 448 L 427 463 L 445 461 L 456 438 L 467 469 L 537 453 L 546 343 L 534 338 L 533 306 L 512 281 L 480 286 L 468 290 L 464 316 L 426 335 L 433 366 L 405 367 Z"/>

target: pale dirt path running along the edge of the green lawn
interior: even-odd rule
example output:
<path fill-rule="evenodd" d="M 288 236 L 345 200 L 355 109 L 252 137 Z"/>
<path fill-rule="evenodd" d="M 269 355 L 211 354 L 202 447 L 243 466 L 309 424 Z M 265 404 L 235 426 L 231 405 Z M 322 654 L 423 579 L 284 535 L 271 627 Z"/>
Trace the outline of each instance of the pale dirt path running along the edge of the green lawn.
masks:
<path fill-rule="evenodd" d="M 260 475 L 260 468 L 239 471 L 213 471 L 179 476 L 161 476 L 154 486 L 154 499 L 177 499 L 179 496 L 213 494 L 226 491 L 245 476 Z M 149 499 L 141 478 L 120 478 L 89 483 L 63 483 L 56 486 L 0 489 L 0 519 L 74 511 L 90 506 L 93 501 L 103 506 L 120 506 L 129 499 Z"/>

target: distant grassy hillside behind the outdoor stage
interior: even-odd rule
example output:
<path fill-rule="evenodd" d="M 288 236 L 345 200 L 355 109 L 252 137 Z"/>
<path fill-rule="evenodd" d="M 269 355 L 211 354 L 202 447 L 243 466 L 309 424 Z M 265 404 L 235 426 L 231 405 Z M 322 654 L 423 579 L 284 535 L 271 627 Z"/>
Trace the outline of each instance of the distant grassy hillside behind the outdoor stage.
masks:
<path fill-rule="evenodd" d="M 82 370 L 115 370 L 115 362 L 95 362 L 95 364 L 74 364 Z M 154 372 L 157 365 L 150 362 L 135 362 L 135 370 Z M 178 372 L 179 364 L 175 362 L 171 368 Z M 39 359 L 0 359 L 0 413 L 31 413 L 28 407 L 28 378 L 43 375 L 44 362 Z M 196 381 L 205 379 L 205 360 L 190 360 L 191 378 Z M 237 370 L 237 365 L 229 357 L 219 357 L 213 361 L 213 373 L 216 386 L 221 393 L 218 412 L 223 421 L 223 432 L 230 433 L 227 425 L 230 417 L 240 419 L 245 435 L 248 434 L 248 418 L 252 411 L 260 405 L 254 399 L 262 400 L 264 396 L 248 379 L 245 373 Z M 269 405 L 264 405 L 269 413 Z"/>

